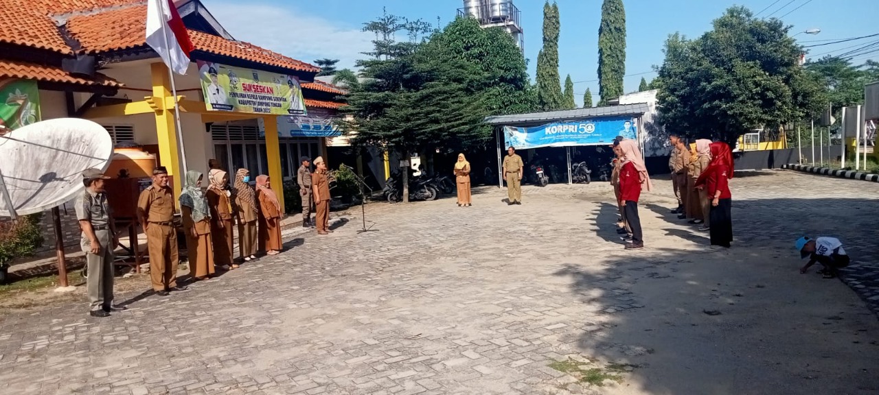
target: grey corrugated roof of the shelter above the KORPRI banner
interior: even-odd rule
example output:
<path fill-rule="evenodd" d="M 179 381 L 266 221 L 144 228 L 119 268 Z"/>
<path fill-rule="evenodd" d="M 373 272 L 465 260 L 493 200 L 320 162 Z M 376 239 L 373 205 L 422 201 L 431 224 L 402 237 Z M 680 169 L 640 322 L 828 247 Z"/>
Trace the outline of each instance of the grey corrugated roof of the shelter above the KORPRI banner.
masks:
<path fill-rule="evenodd" d="M 649 111 L 646 103 L 611 105 L 607 107 L 578 108 L 576 110 L 532 112 L 529 114 L 495 115 L 485 118 L 485 123 L 494 126 L 533 126 L 547 122 L 577 120 L 585 118 L 619 117 L 631 115 L 640 117 Z"/>

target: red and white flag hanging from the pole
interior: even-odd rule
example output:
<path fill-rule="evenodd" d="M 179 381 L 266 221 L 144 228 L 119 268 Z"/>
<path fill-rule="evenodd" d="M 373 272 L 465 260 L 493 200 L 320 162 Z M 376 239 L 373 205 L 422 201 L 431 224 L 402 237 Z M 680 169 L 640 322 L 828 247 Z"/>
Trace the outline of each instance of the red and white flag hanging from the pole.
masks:
<path fill-rule="evenodd" d="M 173 72 L 179 75 L 186 74 L 193 42 L 189 40 L 189 34 L 177 12 L 174 0 L 149 0 L 147 45 L 162 57 L 162 61 Z"/>

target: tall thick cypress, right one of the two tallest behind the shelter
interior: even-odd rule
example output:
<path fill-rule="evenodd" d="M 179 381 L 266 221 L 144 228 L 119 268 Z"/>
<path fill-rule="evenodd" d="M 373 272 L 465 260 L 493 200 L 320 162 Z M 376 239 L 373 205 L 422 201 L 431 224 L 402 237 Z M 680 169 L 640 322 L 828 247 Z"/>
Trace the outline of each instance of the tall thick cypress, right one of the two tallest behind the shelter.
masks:
<path fill-rule="evenodd" d="M 620 97 L 626 75 L 626 10 L 622 0 L 604 0 L 599 27 L 599 105 Z"/>

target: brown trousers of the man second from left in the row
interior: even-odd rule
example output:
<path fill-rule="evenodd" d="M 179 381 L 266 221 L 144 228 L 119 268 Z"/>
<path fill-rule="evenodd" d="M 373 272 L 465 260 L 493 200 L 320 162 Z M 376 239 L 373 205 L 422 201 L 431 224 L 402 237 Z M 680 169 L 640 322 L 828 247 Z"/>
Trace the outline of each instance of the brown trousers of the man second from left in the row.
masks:
<path fill-rule="evenodd" d="M 147 226 L 149 279 L 154 291 L 177 286 L 177 229 L 170 225 Z"/>

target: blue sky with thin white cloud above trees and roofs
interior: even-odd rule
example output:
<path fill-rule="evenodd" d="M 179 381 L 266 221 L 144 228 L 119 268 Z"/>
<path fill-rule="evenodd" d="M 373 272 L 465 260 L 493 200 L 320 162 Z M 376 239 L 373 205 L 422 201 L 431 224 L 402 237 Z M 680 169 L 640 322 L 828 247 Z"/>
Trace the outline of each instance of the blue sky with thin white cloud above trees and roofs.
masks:
<path fill-rule="evenodd" d="M 364 22 L 381 15 L 381 8 L 406 18 L 422 18 L 446 25 L 461 8 L 461 0 L 203 0 L 209 11 L 236 38 L 286 54 L 301 61 L 329 57 L 340 59 L 341 67 L 352 67 L 360 52 L 371 45 L 370 35 L 360 32 Z M 574 91 L 582 103 L 586 88 L 598 94 L 598 28 L 601 0 L 557 0 L 561 15 L 559 72 L 564 80 L 570 74 Z M 846 39 L 879 33 L 879 26 L 860 15 L 875 11 L 875 0 L 624 0 L 626 6 L 627 59 L 625 88 L 636 90 L 641 77 L 655 76 L 652 65 L 663 60 L 666 36 L 681 32 L 695 37 L 711 27 L 711 21 L 734 4 L 754 12 L 766 7 L 760 16 L 781 17 L 794 32 L 820 28 L 817 35 L 799 34 L 804 45 L 822 44 L 813 40 Z M 529 75 L 534 80 L 537 52 L 541 48 L 544 0 L 513 0 L 522 12 L 525 55 Z M 874 19 L 875 20 L 875 19 Z M 402 39 L 402 38 L 401 38 Z M 861 45 L 879 42 L 879 37 L 813 48 L 811 54 L 842 54 Z M 853 47 L 855 46 L 855 47 Z M 849 47 L 846 49 L 846 47 Z M 879 60 L 879 53 L 855 58 L 856 63 Z"/>

